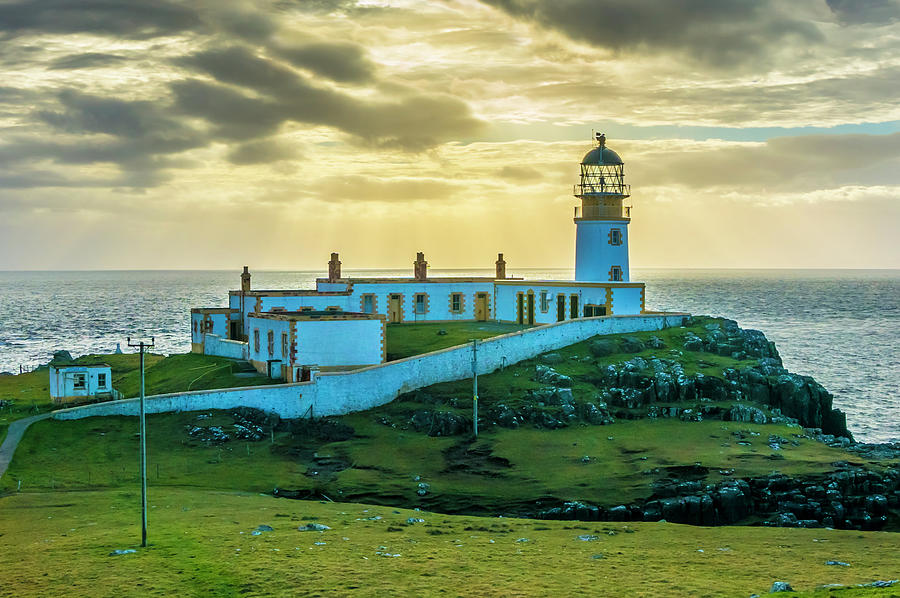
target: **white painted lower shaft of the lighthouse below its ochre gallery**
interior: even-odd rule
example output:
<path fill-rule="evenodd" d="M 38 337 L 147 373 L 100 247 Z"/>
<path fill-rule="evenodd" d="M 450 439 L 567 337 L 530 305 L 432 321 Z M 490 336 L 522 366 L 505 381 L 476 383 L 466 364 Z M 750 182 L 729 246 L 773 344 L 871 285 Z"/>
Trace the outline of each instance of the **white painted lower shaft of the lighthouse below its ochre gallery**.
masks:
<path fill-rule="evenodd" d="M 609 231 L 622 231 L 622 244 L 610 245 Z M 628 222 L 575 221 L 575 280 L 606 282 L 612 266 L 622 268 L 622 282 L 631 280 L 628 268 Z"/>

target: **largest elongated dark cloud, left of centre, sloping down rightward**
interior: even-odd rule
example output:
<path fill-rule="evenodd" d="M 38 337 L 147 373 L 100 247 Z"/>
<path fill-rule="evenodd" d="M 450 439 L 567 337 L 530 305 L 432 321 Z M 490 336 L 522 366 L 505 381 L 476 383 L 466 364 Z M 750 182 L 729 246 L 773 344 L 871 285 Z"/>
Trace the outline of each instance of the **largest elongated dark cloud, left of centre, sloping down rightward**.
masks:
<path fill-rule="evenodd" d="M 176 105 L 213 123 L 220 135 L 249 139 L 271 134 L 284 121 L 327 125 L 383 146 L 418 151 L 474 134 L 481 121 L 462 101 L 444 95 L 410 94 L 395 99 L 360 99 L 313 85 L 293 69 L 235 46 L 180 59 L 231 87 L 198 80 L 173 84 Z"/>

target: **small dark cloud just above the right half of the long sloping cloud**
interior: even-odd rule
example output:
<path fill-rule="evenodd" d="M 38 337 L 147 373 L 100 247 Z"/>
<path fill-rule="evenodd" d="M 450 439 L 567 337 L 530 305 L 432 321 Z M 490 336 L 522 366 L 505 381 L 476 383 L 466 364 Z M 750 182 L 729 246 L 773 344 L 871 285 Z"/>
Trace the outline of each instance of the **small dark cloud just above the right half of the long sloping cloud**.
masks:
<path fill-rule="evenodd" d="M 365 49 L 350 42 L 310 42 L 275 52 L 294 66 L 342 83 L 367 83 L 375 73 Z"/>

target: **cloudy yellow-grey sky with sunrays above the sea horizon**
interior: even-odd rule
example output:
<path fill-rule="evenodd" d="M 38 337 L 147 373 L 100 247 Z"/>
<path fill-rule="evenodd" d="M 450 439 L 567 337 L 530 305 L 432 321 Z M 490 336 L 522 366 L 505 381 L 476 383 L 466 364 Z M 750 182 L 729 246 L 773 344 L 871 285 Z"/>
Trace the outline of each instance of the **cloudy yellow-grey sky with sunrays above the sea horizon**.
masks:
<path fill-rule="evenodd" d="M 900 0 L 0 1 L 0 270 L 900 268 Z"/>

